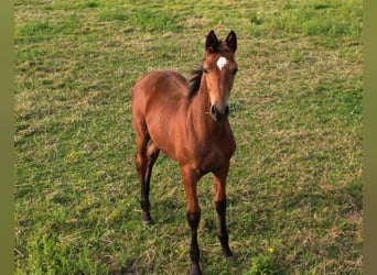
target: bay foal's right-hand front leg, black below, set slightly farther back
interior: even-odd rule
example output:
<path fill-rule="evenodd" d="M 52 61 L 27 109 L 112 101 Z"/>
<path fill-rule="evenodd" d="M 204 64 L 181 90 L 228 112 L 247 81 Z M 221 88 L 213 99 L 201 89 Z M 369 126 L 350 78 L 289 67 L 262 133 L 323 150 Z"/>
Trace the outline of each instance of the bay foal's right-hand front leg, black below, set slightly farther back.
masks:
<path fill-rule="evenodd" d="M 229 249 L 229 237 L 226 228 L 226 177 L 228 175 L 229 164 L 223 169 L 214 173 L 214 188 L 215 188 L 215 208 L 217 212 L 218 223 L 218 240 L 222 244 L 223 254 L 227 258 L 233 258 L 233 253 Z"/>

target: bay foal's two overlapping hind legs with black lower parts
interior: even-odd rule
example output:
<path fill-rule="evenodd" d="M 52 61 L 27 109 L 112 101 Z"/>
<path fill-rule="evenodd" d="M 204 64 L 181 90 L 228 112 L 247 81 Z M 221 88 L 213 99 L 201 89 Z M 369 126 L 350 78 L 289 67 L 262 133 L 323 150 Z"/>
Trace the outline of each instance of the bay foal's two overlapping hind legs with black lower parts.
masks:
<path fill-rule="evenodd" d="M 137 138 L 137 169 L 140 180 L 140 206 L 142 210 L 142 221 L 147 224 L 153 223 L 150 215 L 150 179 L 152 168 L 158 158 L 160 150 L 154 145 L 149 135 Z"/>

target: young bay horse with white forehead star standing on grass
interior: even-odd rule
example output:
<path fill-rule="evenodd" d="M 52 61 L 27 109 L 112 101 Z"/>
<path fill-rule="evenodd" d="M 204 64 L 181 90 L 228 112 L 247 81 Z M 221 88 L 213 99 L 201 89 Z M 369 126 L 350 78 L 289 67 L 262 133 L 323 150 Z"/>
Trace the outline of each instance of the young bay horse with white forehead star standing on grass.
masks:
<path fill-rule="evenodd" d="M 150 179 L 162 151 L 176 161 L 187 200 L 186 219 L 191 228 L 191 274 L 202 274 L 197 244 L 201 208 L 196 185 L 213 174 L 214 202 L 223 254 L 231 258 L 226 228 L 226 178 L 236 142 L 228 122 L 228 99 L 237 63 L 237 37 L 230 31 L 219 41 L 214 31 L 206 36 L 202 67 L 191 85 L 175 72 L 153 70 L 132 89 L 132 124 L 136 132 L 137 170 L 140 179 L 142 221 L 151 224 Z"/>

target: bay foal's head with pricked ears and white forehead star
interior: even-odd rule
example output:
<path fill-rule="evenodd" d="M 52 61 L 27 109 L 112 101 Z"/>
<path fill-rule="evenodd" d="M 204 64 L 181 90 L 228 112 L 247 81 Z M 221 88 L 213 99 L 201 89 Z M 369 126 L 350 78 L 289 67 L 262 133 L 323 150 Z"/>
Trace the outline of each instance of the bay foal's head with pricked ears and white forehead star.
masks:
<path fill-rule="evenodd" d="M 235 52 L 237 37 L 230 31 L 224 42 L 218 41 L 214 31 L 207 35 L 202 84 L 205 81 L 211 99 L 209 113 L 215 121 L 224 120 L 229 113 L 228 99 L 233 80 L 237 73 Z"/>

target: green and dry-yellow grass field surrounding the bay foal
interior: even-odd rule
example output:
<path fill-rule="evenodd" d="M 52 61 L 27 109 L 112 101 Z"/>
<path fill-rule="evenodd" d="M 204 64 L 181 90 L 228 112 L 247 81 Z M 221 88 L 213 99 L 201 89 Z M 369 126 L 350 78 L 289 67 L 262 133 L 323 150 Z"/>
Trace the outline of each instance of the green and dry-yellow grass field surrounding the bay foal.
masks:
<path fill-rule="evenodd" d="M 238 36 L 228 176 L 236 260 L 198 187 L 205 274 L 362 274 L 362 0 L 14 1 L 15 274 L 185 274 L 179 166 L 140 222 L 130 95 Z"/>

